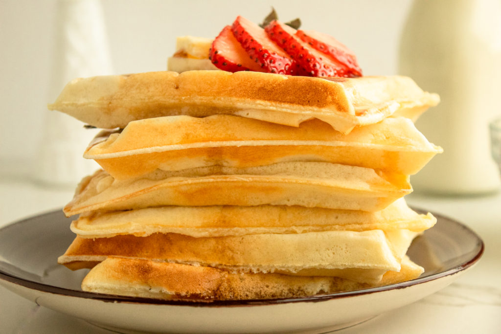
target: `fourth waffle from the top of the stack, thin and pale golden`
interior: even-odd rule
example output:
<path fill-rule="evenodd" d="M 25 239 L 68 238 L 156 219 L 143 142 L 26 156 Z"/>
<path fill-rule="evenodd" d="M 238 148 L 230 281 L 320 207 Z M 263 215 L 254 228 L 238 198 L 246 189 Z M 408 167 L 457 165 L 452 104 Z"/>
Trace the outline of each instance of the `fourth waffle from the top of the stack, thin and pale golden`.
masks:
<path fill-rule="evenodd" d="M 432 227 L 435 222 L 431 214 L 417 214 L 401 198 L 376 212 L 283 205 L 163 206 L 91 212 L 73 221 L 71 230 L 84 238 L 120 234 L 148 236 L 153 233 L 209 237 L 339 230 L 392 231 L 402 228 L 421 232 Z"/>

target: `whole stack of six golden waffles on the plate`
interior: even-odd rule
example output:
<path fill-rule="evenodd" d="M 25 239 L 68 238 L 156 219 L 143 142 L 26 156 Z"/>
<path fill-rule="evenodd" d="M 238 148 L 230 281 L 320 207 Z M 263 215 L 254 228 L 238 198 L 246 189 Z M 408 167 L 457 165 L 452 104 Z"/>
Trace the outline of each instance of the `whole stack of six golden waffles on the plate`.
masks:
<path fill-rule="evenodd" d="M 91 268 L 86 291 L 161 299 L 297 297 L 416 278 L 423 268 L 405 253 L 436 219 L 403 196 L 441 148 L 409 118 L 437 102 L 405 77 L 75 80 L 51 108 L 123 129 L 85 151 L 103 170 L 64 209 L 80 216 L 58 262 Z"/>

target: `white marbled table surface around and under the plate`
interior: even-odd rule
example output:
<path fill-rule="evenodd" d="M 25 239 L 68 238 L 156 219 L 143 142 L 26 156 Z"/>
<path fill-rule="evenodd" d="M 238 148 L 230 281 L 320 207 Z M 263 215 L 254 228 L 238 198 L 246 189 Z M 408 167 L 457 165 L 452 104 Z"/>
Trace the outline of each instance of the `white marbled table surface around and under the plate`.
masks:
<path fill-rule="evenodd" d="M 73 189 L 47 188 L 28 180 L 0 180 L 0 227 L 57 209 Z M 501 193 L 483 196 L 406 197 L 410 205 L 454 218 L 485 243 L 479 263 L 448 287 L 413 304 L 338 331 L 385 333 L 497 333 L 501 328 Z M 0 333 L 111 333 L 84 320 L 38 306 L 0 286 Z"/>

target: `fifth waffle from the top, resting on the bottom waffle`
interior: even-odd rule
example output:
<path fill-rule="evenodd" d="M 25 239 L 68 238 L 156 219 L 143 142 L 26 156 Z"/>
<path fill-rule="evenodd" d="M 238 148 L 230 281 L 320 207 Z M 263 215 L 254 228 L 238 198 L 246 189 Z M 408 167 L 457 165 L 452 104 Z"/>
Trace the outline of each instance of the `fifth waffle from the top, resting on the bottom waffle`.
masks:
<path fill-rule="evenodd" d="M 400 270 L 416 235 L 400 229 L 200 238 L 175 233 L 95 239 L 77 236 L 58 261 L 75 269 L 107 256 L 134 257 L 238 272 L 336 276 L 374 284 L 384 272 Z"/>

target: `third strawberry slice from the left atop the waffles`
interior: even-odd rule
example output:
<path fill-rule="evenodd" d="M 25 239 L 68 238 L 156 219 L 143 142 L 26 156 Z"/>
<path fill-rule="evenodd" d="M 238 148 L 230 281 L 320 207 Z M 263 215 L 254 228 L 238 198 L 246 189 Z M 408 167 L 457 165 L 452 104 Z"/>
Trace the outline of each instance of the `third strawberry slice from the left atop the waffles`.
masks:
<path fill-rule="evenodd" d="M 313 77 L 347 77 L 347 68 L 313 49 L 296 36 L 296 30 L 279 21 L 266 28 L 268 36 L 284 49 L 300 65 L 302 75 Z"/>

